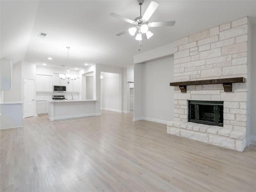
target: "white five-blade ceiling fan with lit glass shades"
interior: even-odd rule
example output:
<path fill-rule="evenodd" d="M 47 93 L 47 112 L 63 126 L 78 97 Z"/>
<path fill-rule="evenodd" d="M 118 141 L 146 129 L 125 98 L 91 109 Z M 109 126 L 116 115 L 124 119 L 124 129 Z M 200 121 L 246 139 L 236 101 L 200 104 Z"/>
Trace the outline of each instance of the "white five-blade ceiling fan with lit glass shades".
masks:
<path fill-rule="evenodd" d="M 125 22 L 128 22 L 130 24 L 133 24 L 134 27 L 129 28 L 128 30 L 125 30 L 123 32 L 120 32 L 116 34 L 117 36 L 120 36 L 122 34 L 125 34 L 129 32 L 132 36 L 136 35 L 136 40 L 141 41 L 142 36 L 144 36 L 145 39 L 149 39 L 153 36 L 153 33 L 148 30 L 148 28 L 151 27 L 162 27 L 162 26 L 174 26 L 175 21 L 163 21 L 163 22 L 148 22 L 152 14 L 155 12 L 156 8 L 158 8 L 159 4 L 157 2 L 150 2 L 148 8 L 146 9 L 143 16 L 141 16 L 141 6 L 144 2 L 144 0 L 137 0 L 138 4 L 140 5 L 140 16 L 136 17 L 134 20 L 130 20 L 128 18 L 125 18 L 123 16 L 120 16 L 115 13 L 110 13 L 110 16 L 113 16 L 115 18 L 121 19 Z"/>

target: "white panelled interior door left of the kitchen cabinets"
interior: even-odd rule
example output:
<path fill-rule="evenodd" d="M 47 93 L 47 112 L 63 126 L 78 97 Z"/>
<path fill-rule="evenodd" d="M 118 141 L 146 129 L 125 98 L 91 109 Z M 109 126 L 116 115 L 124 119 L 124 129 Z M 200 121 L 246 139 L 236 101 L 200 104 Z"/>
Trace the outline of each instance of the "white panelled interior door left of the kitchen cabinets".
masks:
<path fill-rule="evenodd" d="M 34 116 L 34 80 L 24 78 L 24 118 Z"/>

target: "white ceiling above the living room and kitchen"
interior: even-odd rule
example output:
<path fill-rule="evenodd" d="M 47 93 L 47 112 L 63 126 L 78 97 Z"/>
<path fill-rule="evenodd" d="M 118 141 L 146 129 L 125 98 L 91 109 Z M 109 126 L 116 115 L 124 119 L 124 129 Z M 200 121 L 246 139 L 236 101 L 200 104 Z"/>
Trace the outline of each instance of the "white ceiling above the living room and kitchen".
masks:
<path fill-rule="evenodd" d="M 111 12 L 130 18 L 140 16 L 136 0 L 1 0 L 1 58 L 35 62 L 37 65 L 84 68 L 84 63 L 133 67 L 133 56 L 208 28 L 248 16 L 256 23 L 256 1 L 156 0 L 160 5 L 150 22 L 172 21 L 171 27 L 150 28 L 149 40 L 138 41 L 126 33 L 131 24 L 109 16 Z M 142 5 L 142 14 L 150 1 Z M 39 32 L 48 34 L 39 38 Z M 52 57 L 52 60 L 48 60 Z"/>

